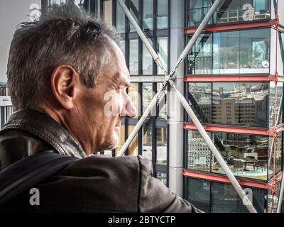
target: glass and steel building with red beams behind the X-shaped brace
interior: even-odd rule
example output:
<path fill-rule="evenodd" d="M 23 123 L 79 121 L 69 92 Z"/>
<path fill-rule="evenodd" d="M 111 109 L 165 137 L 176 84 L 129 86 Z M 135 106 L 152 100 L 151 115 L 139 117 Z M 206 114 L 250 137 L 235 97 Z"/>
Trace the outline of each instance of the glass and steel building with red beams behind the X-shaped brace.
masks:
<path fill-rule="evenodd" d="M 42 1 L 43 9 L 66 1 Z M 74 1 L 121 34 L 137 116 L 121 125 L 124 144 L 164 76 L 116 0 Z M 125 0 L 166 69 L 178 60 L 213 0 Z M 175 84 L 258 212 L 275 211 L 283 172 L 284 2 L 225 0 L 178 68 Z M 207 212 L 247 212 L 177 97 L 148 116 L 126 155 L 144 155 L 154 176 Z"/>

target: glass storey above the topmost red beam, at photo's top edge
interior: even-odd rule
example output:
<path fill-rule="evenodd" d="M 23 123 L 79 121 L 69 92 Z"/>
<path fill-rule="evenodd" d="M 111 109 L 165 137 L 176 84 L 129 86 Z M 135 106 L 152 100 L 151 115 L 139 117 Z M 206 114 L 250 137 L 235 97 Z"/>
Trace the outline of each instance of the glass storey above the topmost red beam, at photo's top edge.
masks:
<path fill-rule="evenodd" d="M 271 18 L 270 0 L 225 0 L 209 24 L 241 23 Z M 213 0 L 187 0 L 187 26 L 200 24 L 213 4 Z"/>

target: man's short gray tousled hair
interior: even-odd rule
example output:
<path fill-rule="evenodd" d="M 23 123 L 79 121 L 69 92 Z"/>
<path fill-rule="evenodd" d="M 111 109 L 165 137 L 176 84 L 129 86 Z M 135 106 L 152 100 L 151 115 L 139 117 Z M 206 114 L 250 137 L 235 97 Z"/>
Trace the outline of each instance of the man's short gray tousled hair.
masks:
<path fill-rule="evenodd" d="M 109 38 L 119 44 L 114 28 L 74 4 L 53 6 L 39 21 L 21 23 L 13 35 L 7 70 L 13 108 L 34 109 L 42 103 L 58 65 L 70 65 L 86 87 L 95 87 L 109 58 Z"/>

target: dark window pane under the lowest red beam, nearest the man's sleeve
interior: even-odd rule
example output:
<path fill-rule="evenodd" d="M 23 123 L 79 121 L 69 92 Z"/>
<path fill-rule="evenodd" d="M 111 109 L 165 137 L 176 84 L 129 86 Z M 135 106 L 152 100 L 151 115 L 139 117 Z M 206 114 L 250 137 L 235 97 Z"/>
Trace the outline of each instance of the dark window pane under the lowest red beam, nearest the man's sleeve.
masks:
<path fill-rule="evenodd" d="M 197 209 L 210 212 L 210 182 L 187 178 L 187 200 Z"/>

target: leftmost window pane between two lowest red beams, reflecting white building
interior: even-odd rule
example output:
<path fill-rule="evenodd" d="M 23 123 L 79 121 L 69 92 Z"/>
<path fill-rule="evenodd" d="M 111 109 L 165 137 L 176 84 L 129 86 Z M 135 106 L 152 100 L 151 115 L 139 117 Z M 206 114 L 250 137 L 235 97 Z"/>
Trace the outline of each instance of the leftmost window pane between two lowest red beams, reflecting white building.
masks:
<path fill-rule="evenodd" d="M 211 133 L 208 133 L 211 136 Z M 187 168 L 210 172 L 211 150 L 198 131 L 187 131 Z"/>

